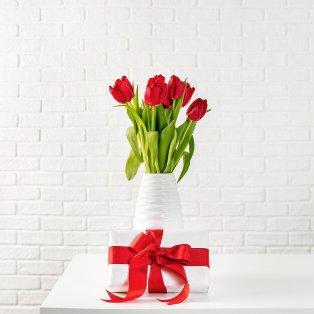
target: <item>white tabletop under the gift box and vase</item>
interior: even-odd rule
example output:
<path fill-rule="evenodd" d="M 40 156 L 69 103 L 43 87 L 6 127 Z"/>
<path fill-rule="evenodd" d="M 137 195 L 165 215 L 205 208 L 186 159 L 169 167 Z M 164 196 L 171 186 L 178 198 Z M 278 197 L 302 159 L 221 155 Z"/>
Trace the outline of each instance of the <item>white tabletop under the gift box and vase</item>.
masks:
<path fill-rule="evenodd" d="M 41 314 L 314 313 L 314 254 L 211 255 L 208 293 L 167 305 L 148 294 L 107 303 L 107 257 L 76 255 L 41 306 Z M 123 294 L 120 294 L 123 295 Z M 173 294 L 171 294 L 173 295 Z M 169 297 L 169 296 L 168 296 Z"/>

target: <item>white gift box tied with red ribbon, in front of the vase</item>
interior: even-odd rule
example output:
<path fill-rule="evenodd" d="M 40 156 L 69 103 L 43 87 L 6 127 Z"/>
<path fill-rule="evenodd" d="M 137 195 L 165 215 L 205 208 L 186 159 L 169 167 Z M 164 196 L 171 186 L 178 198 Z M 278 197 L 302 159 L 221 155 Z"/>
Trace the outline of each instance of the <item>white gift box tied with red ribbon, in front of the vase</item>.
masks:
<path fill-rule="evenodd" d="M 137 262 L 138 258 L 140 262 Z M 129 271 L 135 278 L 133 281 L 139 281 L 139 272 L 146 271 L 146 268 L 143 270 L 145 263 L 147 264 L 147 274 L 145 274 L 147 279 L 146 277 L 143 279 L 145 280 L 143 292 L 182 293 L 184 289 L 187 289 L 187 285 L 190 292 L 207 292 L 208 231 L 110 231 L 108 268 L 110 292 L 128 292 Z"/>

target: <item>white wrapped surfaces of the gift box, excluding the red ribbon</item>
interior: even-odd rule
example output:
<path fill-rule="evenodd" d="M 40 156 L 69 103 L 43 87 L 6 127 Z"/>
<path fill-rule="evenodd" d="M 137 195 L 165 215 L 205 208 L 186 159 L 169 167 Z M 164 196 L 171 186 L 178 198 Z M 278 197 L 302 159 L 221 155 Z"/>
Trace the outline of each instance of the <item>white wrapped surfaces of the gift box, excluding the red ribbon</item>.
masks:
<path fill-rule="evenodd" d="M 145 230 L 111 230 L 109 246 L 130 246 L 135 238 Z M 164 230 L 161 247 L 173 247 L 178 244 L 189 244 L 192 248 L 208 249 L 208 231 L 206 230 Z M 190 285 L 190 292 L 207 292 L 209 268 L 207 266 L 187 266 L 184 269 Z M 108 290 L 110 292 L 127 292 L 128 264 L 109 264 Z M 148 265 L 148 274 L 150 265 Z M 167 292 L 181 292 L 183 280 L 162 267 L 162 275 Z M 148 282 L 146 291 L 148 292 Z"/>

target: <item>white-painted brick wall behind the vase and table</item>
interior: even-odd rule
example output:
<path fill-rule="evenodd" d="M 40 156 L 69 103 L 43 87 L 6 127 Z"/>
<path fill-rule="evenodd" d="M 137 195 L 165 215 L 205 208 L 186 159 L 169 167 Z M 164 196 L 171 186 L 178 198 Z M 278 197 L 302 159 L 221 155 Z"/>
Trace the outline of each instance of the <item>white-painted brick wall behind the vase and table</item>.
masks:
<path fill-rule="evenodd" d="M 314 253 L 314 2 L 0 1 L 0 313 L 38 314 L 76 253 L 132 228 L 108 84 L 188 77 L 213 109 L 180 183 L 212 252 Z"/>

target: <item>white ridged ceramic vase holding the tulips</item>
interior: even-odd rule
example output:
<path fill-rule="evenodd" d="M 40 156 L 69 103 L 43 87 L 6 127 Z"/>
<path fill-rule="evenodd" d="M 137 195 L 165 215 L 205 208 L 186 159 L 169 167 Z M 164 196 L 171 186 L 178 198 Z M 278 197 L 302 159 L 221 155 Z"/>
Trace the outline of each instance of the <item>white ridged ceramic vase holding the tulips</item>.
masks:
<path fill-rule="evenodd" d="M 134 229 L 183 229 L 174 174 L 144 174 L 138 192 Z"/>

